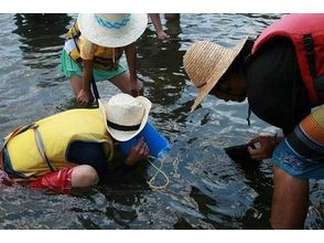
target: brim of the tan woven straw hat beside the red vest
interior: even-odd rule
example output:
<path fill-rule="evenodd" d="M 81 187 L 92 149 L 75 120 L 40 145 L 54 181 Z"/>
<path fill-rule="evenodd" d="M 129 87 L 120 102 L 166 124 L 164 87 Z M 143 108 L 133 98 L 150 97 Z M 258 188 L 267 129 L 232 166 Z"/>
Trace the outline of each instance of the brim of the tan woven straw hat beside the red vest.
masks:
<path fill-rule="evenodd" d="M 245 43 L 247 42 L 248 36 L 242 39 L 235 47 L 229 49 L 228 53 L 225 54 L 222 63 L 218 65 L 219 68 L 215 68 L 210 78 L 206 82 L 206 84 L 198 88 L 198 95 L 192 106 L 192 112 L 197 108 L 197 106 L 204 101 L 204 98 L 209 94 L 213 87 L 218 83 L 220 77 L 226 73 L 229 68 L 230 64 L 234 62 L 236 56 L 242 50 Z M 222 68 L 220 68 L 222 67 Z"/>

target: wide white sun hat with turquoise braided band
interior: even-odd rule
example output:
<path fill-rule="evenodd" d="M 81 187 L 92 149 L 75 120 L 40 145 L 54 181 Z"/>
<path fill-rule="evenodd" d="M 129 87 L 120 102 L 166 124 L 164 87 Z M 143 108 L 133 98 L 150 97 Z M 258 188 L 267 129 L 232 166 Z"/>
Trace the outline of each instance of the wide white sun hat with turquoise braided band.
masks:
<path fill-rule="evenodd" d="M 79 13 L 78 27 L 90 42 L 106 46 L 126 46 L 138 40 L 148 25 L 145 13 Z"/>

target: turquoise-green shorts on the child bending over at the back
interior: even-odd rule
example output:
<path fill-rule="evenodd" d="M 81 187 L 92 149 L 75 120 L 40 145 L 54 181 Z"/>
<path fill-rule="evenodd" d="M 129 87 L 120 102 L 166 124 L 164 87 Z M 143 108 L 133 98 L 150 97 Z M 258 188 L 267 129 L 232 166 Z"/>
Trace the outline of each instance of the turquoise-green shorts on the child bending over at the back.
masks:
<path fill-rule="evenodd" d="M 83 75 L 82 66 L 77 64 L 73 59 L 71 59 L 65 50 L 63 50 L 61 55 L 61 70 L 67 78 L 69 78 L 73 75 L 77 75 L 77 76 Z M 94 74 L 95 81 L 98 82 L 98 81 L 109 81 L 122 74 L 126 71 L 127 68 L 119 63 L 118 68 L 116 70 L 104 71 L 104 70 L 94 68 L 93 74 Z"/>

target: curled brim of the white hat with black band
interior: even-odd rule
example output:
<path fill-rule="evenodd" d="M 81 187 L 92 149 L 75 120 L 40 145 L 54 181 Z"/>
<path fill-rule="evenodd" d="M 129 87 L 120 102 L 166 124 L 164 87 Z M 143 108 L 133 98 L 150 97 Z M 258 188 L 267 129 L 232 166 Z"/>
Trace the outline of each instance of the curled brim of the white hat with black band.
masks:
<path fill-rule="evenodd" d="M 138 130 L 121 131 L 121 130 L 117 130 L 117 129 L 114 129 L 114 128 L 109 127 L 107 125 L 107 123 L 106 123 L 107 131 L 111 135 L 111 137 L 114 137 L 118 141 L 127 141 L 127 140 L 132 139 L 139 133 L 141 133 L 141 130 L 147 125 L 147 122 L 148 122 L 148 118 L 149 118 L 149 113 L 150 113 L 150 109 L 152 107 L 152 104 L 148 98 L 145 98 L 143 96 L 138 96 L 138 97 L 136 97 L 136 99 L 138 99 L 143 105 L 143 108 L 144 108 L 143 118 L 142 118 L 141 125 L 140 125 Z M 101 102 L 99 102 L 99 106 L 101 106 L 101 109 L 102 109 L 102 113 L 105 114 L 105 119 L 106 119 L 105 107 L 101 104 Z"/>

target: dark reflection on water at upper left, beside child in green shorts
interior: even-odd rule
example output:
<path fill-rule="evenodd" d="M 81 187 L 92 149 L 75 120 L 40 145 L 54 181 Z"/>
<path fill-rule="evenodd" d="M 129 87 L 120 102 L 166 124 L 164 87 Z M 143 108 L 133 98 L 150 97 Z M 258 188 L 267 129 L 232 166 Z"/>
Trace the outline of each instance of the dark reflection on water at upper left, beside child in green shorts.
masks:
<path fill-rule="evenodd" d="M 21 14 L 14 15 L 22 51 L 22 63 L 42 72 L 46 80 L 39 81 L 41 87 L 56 85 L 51 70 L 60 64 L 60 54 L 64 44 L 64 34 L 72 20 L 64 13 Z M 48 45 L 48 43 L 51 43 Z M 55 76 L 54 76 L 55 77 Z"/>

